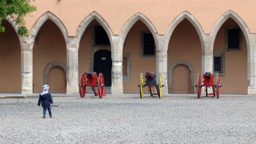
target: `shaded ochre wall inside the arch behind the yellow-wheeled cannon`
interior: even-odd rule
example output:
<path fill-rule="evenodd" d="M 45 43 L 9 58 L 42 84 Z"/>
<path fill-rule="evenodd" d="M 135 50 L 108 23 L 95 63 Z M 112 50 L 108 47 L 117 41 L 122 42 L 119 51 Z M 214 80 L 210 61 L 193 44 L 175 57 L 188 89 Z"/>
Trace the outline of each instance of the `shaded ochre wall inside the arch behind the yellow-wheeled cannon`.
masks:
<path fill-rule="evenodd" d="M 149 31 L 147 26 L 138 20 L 129 31 L 124 44 L 124 53 L 131 54 L 131 82 L 124 82 L 124 93 L 139 93 L 140 73 L 156 73 L 156 57 L 141 56 L 141 31 Z M 145 79 L 145 78 L 144 78 Z M 148 93 L 147 88 L 144 90 Z"/>

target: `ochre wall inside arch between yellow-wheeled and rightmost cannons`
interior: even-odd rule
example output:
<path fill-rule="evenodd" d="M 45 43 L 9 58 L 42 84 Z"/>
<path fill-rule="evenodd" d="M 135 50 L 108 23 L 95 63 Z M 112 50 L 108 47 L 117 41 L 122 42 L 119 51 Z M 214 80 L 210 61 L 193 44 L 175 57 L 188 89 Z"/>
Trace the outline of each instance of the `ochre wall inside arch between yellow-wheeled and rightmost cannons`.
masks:
<path fill-rule="evenodd" d="M 173 31 L 171 36 L 169 47 L 168 47 L 168 77 L 170 78 L 170 65 L 178 60 L 188 61 L 194 70 L 194 79 L 196 81 L 197 74 L 201 73 L 202 65 L 202 46 L 200 44 L 200 39 L 198 33 L 196 32 L 193 25 L 184 19 Z M 185 71 L 188 73 L 188 71 Z M 176 75 L 172 81 L 173 86 L 169 86 L 173 89 L 174 93 L 190 93 L 187 89 L 190 87 L 188 85 L 190 77 L 186 75 L 184 79 L 184 73 L 176 72 Z M 179 78 L 177 78 L 179 77 Z M 195 83 L 194 81 L 194 83 Z M 189 89 L 190 90 L 190 89 Z M 194 88 L 194 93 L 196 88 Z"/>

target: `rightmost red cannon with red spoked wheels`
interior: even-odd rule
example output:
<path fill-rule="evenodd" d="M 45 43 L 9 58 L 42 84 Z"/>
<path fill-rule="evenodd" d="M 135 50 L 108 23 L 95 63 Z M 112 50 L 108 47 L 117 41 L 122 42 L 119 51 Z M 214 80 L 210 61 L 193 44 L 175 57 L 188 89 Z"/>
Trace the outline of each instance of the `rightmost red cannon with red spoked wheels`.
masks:
<path fill-rule="evenodd" d="M 203 84 L 201 83 L 201 76 L 200 74 L 198 74 L 198 84 L 195 85 L 195 87 L 197 88 L 197 96 L 198 96 L 198 99 L 201 98 L 201 92 L 202 92 L 202 87 L 204 86 L 205 87 L 205 92 L 206 92 L 206 97 L 208 95 L 214 95 L 217 96 L 217 99 L 220 98 L 220 87 L 222 86 L 220 84 L 220 76 L 219 74 L 217 74 L 217 77 L 216 77 L 216 84 L 214 84 L 214 75 L 211 74 L 211 72 L 205 72 L 205 74 L 203 75 L 203 78 L 204 78 L 204 81 L 203 81 Z M 208 93 L 208 88 L 212 88 L 212 92 L 213 93 Z M 216 88 L 216 90 L 215 90 Z"/>

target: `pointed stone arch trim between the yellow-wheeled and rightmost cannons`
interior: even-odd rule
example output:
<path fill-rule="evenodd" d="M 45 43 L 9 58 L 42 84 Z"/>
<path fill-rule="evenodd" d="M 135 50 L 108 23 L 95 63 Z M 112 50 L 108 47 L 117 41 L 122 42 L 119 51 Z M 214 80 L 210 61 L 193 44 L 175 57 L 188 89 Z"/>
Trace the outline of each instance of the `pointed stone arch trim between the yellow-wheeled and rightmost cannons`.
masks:
<path fill-rule="evenodd" d="M 174 31 L 174 29 L 179 25 L 180 22 L 182 22 L 182 20 L 184 19 L 188 19 L 189 22 L 191 22 L 191 24 L 194 26 L 194 28 L 196 29 L 196 32 L 198 33 L 198 36 L 200 38 L 200 42 L 202 44 L 202 50 L 204 50 L 204 30 L 202 29 L 202 26 L 199 24 L 199 22 L 195 19 L 195 17 L 193 15 L 191 15 L 191 13 L 185 11 L 180 13 L 180 15 L 178 15 L 173 21 L 172 23 L 168 26 L 168 28 L 166 29 L 164 36 L 164 44 L 169 44 L 170 42 L 170 38 L 172 36 L 172 33 Z M 167 52 L 168 47 L 166 47 L 165 52 Z"/>

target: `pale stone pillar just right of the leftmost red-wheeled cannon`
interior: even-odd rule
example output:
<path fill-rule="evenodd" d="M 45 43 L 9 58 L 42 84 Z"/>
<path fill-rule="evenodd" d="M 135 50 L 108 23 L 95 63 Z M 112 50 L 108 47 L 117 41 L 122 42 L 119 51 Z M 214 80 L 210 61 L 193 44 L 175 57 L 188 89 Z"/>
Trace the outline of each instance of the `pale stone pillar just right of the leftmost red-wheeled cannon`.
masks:
<path fill-rule="evenodd" d="M 111 70 L 111 93 L 123 93 L 123 47 L 124 40 L 118 36 L 113 36 L 111 48 L 112 70 Z"/>

